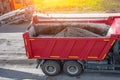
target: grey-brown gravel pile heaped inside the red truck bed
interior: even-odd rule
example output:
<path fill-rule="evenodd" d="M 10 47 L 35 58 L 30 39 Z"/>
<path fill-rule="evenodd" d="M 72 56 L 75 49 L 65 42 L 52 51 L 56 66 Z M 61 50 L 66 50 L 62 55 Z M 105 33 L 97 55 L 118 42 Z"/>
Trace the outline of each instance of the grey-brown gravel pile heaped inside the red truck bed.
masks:
<path fill-rule="evenodd" d="M 102 37 L 85 29 L 67 27 L 54 37 Z"/>

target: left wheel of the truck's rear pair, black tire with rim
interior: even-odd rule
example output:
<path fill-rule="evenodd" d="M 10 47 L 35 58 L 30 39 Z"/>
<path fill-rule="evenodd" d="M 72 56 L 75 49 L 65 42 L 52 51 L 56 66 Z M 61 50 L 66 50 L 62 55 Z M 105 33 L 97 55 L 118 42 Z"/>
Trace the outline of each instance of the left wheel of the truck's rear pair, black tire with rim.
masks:
<path fill-rule="evenodd" d="M 60 64 L 57 61 L 46 61 L 42 65 L 42 71 L 48 76 L 55 76 L 60 73 Z"/>

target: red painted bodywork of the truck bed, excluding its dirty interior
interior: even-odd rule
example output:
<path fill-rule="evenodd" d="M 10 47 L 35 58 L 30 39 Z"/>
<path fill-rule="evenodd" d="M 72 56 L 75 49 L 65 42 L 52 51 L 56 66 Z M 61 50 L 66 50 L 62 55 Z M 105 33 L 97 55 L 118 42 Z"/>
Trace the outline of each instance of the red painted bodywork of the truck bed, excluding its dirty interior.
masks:
<path fill-rule="evenodd" d="M 33 18 L 36 24 L 52 23 L 55 20 L 42 21 Z M 66 19 L 68 20 L 68 19 Z M 57 21 L 66 21 L 65 19 Z M 73 19 L 69 19 L 72 21 Z M 23 34 L 27 57 L 30 59 L 59 60 L 103 60 L 115 41 L 120 38 L 120 17 L 109 17 L 105 20 L 78 20 L 79 22 L 105 23 L 114 30 L 109 37 L 78 37 L 78 38 L 43 38 L 30 37 L 29 32 Z"/>

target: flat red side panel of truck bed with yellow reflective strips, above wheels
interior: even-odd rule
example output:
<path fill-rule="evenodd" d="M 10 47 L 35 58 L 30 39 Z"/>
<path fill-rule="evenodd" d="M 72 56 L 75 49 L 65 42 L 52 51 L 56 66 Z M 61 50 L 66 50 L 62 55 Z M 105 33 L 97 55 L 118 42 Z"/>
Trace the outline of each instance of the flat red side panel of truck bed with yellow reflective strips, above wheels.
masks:
<path fill-rule="evenodd" d="M 32 58 L 102 60 L 114 39 L 29 38 Z"/>

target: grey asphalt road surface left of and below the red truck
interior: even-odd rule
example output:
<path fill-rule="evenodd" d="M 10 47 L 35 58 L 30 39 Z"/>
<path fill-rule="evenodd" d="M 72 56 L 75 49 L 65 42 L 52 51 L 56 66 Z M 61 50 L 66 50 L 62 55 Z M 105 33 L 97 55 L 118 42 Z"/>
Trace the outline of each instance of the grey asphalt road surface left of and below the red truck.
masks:
<path fill-rule="evenodd" d="M 36 69 L 35 60 L 28 60 L 22 39 L 29 22 L 0 27 L 0 80 L 120 80 L 120 74 L 88 73 L 70 77 L 61 72 L 46 76 Z"/>

